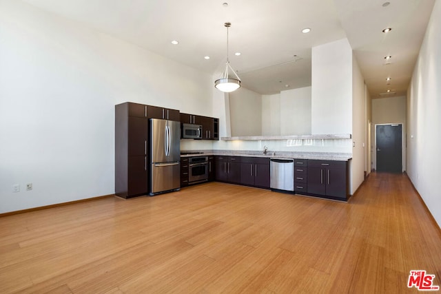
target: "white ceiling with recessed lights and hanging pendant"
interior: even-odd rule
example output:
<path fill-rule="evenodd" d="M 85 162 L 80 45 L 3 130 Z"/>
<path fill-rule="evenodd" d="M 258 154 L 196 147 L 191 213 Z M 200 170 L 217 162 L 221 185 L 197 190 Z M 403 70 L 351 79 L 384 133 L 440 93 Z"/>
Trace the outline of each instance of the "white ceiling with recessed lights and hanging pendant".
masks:
<path fill-rule="evenodd" d="M 311 48 L 347 37 L 378 98 L 406 94 L 435 0 L 24 1 L 209 73 L 225 66 L 229 21 L 230 63 L 260 94 L 311 85 Z"/>

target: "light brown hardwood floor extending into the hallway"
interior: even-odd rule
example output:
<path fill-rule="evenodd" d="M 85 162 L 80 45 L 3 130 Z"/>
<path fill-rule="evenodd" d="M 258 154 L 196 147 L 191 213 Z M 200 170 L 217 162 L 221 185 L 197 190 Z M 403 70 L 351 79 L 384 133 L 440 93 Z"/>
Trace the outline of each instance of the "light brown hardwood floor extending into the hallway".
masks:
<path fill-rule="evenodd" d="M 416 269 L 441 285 L 441 232 L 403 175 L 349 203 L 212 182 L 0 218 L 0 293 L 417 293 Z"/>

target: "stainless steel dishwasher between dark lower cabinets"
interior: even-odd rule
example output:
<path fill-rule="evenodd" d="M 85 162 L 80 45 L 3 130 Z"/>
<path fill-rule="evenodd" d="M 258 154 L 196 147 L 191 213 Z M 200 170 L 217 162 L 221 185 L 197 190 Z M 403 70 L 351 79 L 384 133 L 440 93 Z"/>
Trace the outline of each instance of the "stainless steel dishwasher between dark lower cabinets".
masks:
<path fill-rule="evenodd" d="M 271 158 L 271 189 L 294 191 L 294 159 Z"/>

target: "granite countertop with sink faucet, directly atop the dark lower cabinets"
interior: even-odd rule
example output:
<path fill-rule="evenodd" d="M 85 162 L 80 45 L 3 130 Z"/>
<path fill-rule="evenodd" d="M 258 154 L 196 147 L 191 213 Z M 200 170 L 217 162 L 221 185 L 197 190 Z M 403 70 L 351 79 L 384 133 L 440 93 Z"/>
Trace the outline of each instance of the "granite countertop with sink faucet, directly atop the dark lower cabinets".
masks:
<path fill-rule="evenodd" d="M 185 152 L 185 151 L 181 151 Z M 243 151 L 243 150 L 192 150 L 188 152 L 203 152 L 201 154 L 181 154 L 181 157 L 193 156 L 247 156 L 264 158 L 298 158 L 298 159 L 316 159 L 316 160 L 340 160 L 348 161 L 352 158 L 350 153 L 334 152 L 290 152 L 290 151 L 268 151 L 263 154 L 262 151 Z"/>

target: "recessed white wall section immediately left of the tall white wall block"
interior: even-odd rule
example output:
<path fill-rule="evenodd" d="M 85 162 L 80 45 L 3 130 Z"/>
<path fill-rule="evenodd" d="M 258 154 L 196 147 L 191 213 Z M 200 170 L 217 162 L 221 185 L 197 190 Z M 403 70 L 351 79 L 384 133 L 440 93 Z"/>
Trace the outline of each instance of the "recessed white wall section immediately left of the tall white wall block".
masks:
<path fill-rule="evenodd" d="M 311 134 L 311 87 L 280 92 L 280 135 Z"/>

